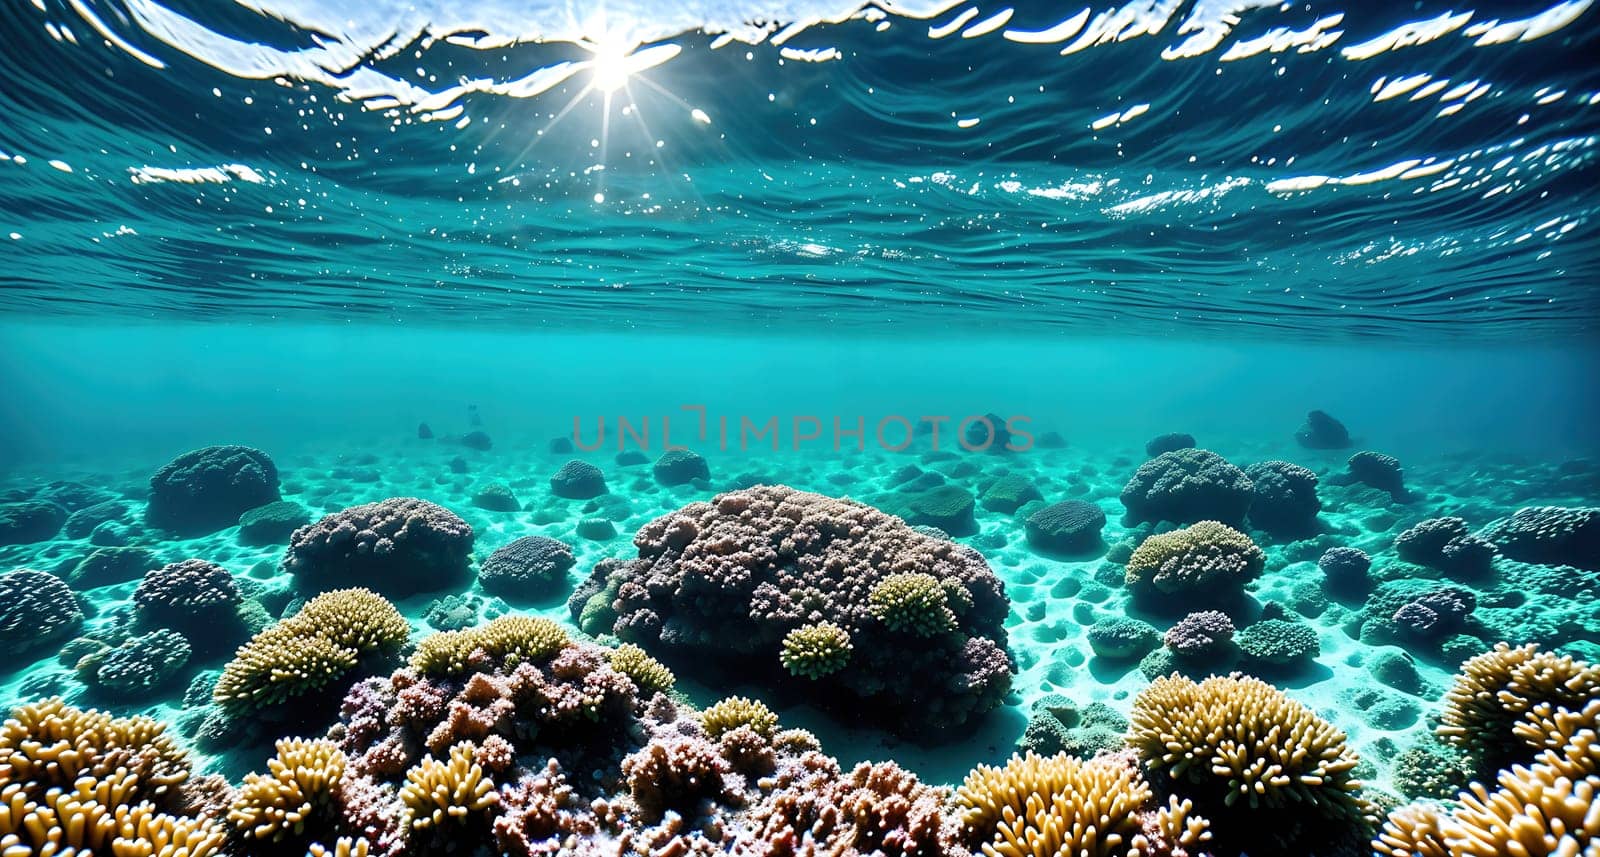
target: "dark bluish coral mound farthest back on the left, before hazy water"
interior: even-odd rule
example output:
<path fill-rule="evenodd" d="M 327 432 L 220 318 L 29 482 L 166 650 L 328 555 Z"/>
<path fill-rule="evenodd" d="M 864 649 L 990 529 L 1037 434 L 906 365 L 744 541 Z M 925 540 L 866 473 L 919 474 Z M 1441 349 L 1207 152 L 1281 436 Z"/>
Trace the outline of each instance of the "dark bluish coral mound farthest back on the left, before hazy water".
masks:
<path fill-rule="evenodd" d="M 278 468 L 266 452 L 206 446 L 178 456 L 150 476 L 144 521 L 179 536 L 205 536 L 277 499 Z"/>

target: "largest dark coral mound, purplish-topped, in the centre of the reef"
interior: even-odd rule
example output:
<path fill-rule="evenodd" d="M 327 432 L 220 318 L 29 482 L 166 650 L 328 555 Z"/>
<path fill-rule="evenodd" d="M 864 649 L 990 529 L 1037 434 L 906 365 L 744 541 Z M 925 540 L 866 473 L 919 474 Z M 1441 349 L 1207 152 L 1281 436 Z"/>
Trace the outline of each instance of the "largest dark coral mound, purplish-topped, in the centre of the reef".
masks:
<path fill-rule="evenodd" d="M 869 505 L 757 486 L 658 518 L 634 545 L 637 560 L 602 563 L 568 603 L 586 632 L 712 659 L 902 731 L 960 726 L 1011 686 L 1008 601 L 984 558 Z M 819 622 L 848 633 L 850 660 L 790 675 L 784 638 Z"/>

